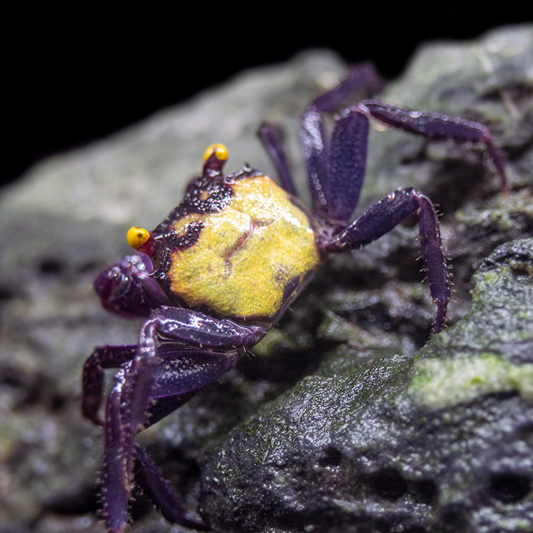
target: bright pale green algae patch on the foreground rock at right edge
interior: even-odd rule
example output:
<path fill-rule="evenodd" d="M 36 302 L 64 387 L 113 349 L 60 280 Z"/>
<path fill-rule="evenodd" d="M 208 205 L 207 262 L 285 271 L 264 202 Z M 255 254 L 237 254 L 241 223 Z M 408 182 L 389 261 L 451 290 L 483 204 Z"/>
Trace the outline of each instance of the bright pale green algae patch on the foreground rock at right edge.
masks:
<path fill-rule="evenodd" d="M 433 409 L 513 390 L 533 399 L 533 363 L 514 364 L 492 353 L 423 359 L 415 363 L 414 370 L 408 393 L 416 403 Z"/>

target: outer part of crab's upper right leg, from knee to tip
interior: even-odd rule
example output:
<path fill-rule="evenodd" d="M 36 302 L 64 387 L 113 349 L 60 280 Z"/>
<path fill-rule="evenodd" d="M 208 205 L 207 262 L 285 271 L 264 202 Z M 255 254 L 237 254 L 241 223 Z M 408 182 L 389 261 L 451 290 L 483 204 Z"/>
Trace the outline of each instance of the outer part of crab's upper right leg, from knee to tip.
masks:
<path fill-rule="evenodd" d="M 370 115 L 385 124 L 428 139 L 484 143 L 500 175 L 501 188 L 503 191 L 508 191 L 503 155 L 493 144 L 490 131 L 484 124 L 440 113 L 404 109 L 380 100 L 363 100 L 359 103 L 359 107 L 368 110 Z"/>

